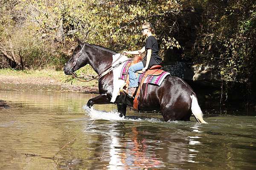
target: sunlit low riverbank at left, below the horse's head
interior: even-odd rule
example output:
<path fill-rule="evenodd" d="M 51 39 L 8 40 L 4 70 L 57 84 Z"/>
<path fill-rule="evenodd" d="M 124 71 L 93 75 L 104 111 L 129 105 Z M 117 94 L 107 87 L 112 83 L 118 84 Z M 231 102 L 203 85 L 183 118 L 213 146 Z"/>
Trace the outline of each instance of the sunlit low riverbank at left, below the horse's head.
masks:
<path fill-rule="evenodd" d="M 90 70 L 87 69 L 87 75 Z M 94 75 L 95 73 L 91 71 Z M 54 69 L 15 71 L 0 69 L 0 89 L 17 91 L 59 91 L 98 94 L 98 82 L 79 82 Z"/>

